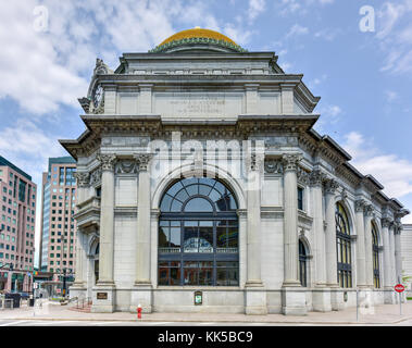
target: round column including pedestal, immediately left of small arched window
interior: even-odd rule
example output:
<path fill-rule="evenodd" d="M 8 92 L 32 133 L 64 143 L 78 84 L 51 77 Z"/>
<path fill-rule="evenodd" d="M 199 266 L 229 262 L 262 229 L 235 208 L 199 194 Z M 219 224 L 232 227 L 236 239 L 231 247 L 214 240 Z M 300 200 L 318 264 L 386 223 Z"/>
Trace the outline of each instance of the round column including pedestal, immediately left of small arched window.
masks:
<path fill-rule="evenodd" d="M 299 282 L 298 239 L 298 164 L 302 156 L 285 154 L 284 163 L 284 283 L 282 310 L 284 314 L 307 314 L 305 294 Z"/>

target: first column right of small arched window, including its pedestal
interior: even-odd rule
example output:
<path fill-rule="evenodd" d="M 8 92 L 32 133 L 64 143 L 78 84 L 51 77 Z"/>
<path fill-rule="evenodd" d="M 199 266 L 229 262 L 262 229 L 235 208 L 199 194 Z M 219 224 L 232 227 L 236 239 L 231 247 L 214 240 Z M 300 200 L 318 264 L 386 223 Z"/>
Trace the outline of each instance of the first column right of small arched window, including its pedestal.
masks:
<path fill-rule="evenodd" d="M 320 312 L 330 311 L 330 291 L 326 287 L 326 259 L 325 259 L 325 229 L 323 223 L 323 192 L 322 183 L 324 174 L 314 170 L 310 176 L 312 187 L 312 216 L 315 257 L 315 289 L 312 295 L 313 310 Z"/>

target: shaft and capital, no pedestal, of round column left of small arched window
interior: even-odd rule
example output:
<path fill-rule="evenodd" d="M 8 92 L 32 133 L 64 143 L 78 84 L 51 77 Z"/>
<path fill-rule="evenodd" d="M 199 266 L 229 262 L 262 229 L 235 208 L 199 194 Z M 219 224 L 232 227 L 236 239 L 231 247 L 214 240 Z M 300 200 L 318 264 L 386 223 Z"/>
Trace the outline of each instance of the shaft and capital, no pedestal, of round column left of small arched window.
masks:
<path fill-rule="evenodd" d="M 284 162 L 284 287 L 300 286 L 298 269 L 298 163 L 300 154 L 286 154 Z"/>

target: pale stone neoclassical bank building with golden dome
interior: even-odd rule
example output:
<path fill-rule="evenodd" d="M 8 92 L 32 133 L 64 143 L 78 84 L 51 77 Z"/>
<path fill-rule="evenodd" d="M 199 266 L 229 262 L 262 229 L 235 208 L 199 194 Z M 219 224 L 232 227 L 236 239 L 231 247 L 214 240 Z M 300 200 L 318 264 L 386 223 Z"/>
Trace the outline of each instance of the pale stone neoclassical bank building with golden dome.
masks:
<path fill-rule="evenodd" d="M 209 29 L 98 59 L 72 297 L 93 312 L 305 314 L 395 303 L 408 210 L 313 129 L 302 75 Z M 377 173 L 378 174 L 378 173 Z"/>

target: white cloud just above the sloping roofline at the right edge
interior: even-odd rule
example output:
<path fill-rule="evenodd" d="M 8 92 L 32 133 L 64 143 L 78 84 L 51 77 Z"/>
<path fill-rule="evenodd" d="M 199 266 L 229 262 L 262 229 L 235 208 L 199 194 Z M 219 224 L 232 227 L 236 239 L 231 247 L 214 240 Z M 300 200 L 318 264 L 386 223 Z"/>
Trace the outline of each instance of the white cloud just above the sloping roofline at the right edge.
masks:
<path fill-rule="evenodd" d="M 384 153 L 373 140 L 358 132 L 346 135 L 342 147 L 352 156 L 351 163 L 364 175 L 372 174 L 385 186 L 388 197 L 412 194 L 412 162 L 397 154 Z"/>

